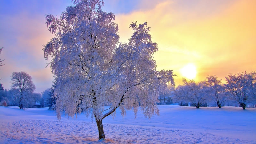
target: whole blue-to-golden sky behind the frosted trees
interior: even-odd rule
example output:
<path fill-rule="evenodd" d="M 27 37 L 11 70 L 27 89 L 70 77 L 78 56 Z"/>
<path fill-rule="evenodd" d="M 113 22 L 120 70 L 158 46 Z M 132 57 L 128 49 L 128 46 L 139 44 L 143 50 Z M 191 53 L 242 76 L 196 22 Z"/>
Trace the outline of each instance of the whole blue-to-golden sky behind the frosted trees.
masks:
<path fill-rule="evenodd" d="M 37 93 L 52 86 L 54 78 L 42 45 L 54 35 L 48 31 L 45 15 L 60 16 L 71 4 L 69 0 L 0 1 L 4 89 L 11 88 L 14 71 L 27 72 Z M 159 47 L 154 54 L 157 70 L 173 70 L 177 86 L 189 73 L 195 73 L 196 82 L 208 75 L 225 82 L 230 73 L 256 70 L 255 7 L 254 0 L 105 0 L 102 9 L 116 15 L 121 42 L 132 35 L 131 21 L 148 22 L 152 41 Z"/>

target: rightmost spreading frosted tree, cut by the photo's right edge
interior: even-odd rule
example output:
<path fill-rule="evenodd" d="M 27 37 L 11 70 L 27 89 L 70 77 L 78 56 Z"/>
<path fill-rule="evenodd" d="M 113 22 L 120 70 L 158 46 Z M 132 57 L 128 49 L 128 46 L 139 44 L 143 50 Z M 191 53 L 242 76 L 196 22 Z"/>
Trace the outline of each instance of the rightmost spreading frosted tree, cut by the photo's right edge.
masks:
<path fill-rule="evenodd" d="M 235 100 L 240 107 L 245 109 L 246 104 L 255 101 L 255 83 L 256 73 L 242 72 L 230 74 L 225 77 L 227 84 L 224 84 L 226 89 L 231 93 L 231 97 Z"/>

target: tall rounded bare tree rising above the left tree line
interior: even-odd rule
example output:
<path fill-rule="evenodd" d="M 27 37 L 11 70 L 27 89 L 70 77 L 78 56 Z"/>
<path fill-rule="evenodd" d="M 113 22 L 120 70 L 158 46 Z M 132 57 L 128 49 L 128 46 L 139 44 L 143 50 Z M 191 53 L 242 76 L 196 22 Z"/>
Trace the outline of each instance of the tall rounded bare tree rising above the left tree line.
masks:
<path fill-rule="evenodd" d="M 32 82 L 32 77 L 26 72 L 13 72 L 11 76 L 12 94 L 18 100 L 20 109 L 29 106 L 29 102 L 33 99 L 33 92 L 36 86 Z"/>

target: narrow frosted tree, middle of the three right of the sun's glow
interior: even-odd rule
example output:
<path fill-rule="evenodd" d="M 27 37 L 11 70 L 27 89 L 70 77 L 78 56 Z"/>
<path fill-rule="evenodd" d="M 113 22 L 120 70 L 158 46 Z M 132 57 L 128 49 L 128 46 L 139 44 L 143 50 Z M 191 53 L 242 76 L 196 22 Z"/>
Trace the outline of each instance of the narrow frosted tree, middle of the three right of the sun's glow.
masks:
<path fill-rule="evenodd" d="M 216 76 L 207 77 L 207 85 L 210 88 L 209 96 L 219 108 L 227 100 L 228 92 L 225 90 L 221 80 L 218 80 Z"/>

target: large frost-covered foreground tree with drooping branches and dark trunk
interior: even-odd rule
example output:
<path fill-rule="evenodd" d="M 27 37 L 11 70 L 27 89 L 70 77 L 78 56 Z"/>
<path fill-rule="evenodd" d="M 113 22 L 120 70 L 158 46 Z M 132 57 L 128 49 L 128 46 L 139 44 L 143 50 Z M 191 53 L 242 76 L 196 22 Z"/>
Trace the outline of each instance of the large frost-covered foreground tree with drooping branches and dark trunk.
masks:
<path fill-rule="evenodd" d="M 128 109 L 136 115 L 139 106 L 149 118 L 158 114 L 157 98 L 168 82 L 174 85 L 174 74 L 156 71 L 152 55 L 158 47 L 151 41 L 147 23 L 132 22 L 132 37 L 120 44 L 115 15 L 101 10 L 102 1 L 73 4 L 60 18 L 46 15 L 55 37 L 43 51 L 56 78 L 58 119 L 64 111 L 72 118 L 83 112 L 95 118 L 99 139 L 105 139 L 102 119 L 114 117 L 118 107 L 123 116 Z"/>

